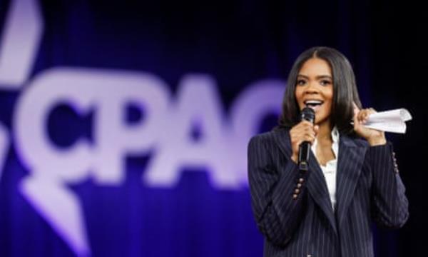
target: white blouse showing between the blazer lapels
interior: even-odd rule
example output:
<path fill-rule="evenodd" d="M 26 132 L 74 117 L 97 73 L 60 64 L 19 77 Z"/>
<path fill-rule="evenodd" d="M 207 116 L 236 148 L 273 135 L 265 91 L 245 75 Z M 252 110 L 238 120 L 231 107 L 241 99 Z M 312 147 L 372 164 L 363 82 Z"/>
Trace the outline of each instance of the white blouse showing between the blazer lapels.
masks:
<path fill-rule="evenodd" d="M 330 201 L 332 202 L 333 211 L 335 211 L 336 206 L 336 171 L 337 171 L 337 156 L 339 156 L 339 131 L 336 127 L 332 129 L 332 150 L 335 153 L 335 158 L 331 161 L 327 161 L 325 166 L 320 164 L 322 173 L 325 177 L 325 182 L 327 183 L 328 192 L 330 193 Z M 317 151 L 317 139 L 315 138 L 314 143 L 311 146 L 312 152 L 316 156 Z"/>

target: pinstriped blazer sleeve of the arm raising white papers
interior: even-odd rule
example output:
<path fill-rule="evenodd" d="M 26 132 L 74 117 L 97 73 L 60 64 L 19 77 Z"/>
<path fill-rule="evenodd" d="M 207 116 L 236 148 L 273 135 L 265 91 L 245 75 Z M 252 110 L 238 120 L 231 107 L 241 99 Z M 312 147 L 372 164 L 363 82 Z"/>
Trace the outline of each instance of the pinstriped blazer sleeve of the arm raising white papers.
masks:
<path fill-rule="evenodd" d="M 400 228 L 409 217 L 409 204 L 392 143 L 370 146 L 367 154 L 373 176 L 372 217 L 379 226 Z"/>

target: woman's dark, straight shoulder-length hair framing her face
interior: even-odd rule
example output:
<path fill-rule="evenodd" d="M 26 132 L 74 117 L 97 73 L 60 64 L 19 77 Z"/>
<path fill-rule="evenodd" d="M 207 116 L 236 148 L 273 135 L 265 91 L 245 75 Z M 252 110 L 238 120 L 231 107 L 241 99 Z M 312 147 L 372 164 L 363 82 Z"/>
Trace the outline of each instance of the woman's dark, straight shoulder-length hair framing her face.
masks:
<path fill-rule="evenodd" d="M 303 64 L 312 58 L 327 61 L 332 70 L 333 102 L 330 114 L 332 126 L 336 126 L 340 133 L 352 135 L 354 131 L 352 124 L 350 124 L 354 116 L 352 102 L 355 102 L 358 108 L 361 109 L 354 71 L 352 70 L 350 61 L 343 54 L 325 46 L 307 49 L 297 57 L 288 75 L 287 87 L 282 100 L 282 113 L 278 119 L 277 128 L 290 129 L 300 122 L 300 109 L 295 99 L 297 75 Z"/>

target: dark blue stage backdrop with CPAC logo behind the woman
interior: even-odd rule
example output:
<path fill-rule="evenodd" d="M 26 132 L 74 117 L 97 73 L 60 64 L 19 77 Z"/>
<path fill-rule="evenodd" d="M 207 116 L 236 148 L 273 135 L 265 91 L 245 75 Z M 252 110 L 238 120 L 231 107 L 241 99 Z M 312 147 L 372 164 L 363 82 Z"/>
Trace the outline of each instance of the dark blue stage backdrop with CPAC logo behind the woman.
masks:
<path fill-rule="evenodd" d="M 419 7 L 367 0 L 1 0 L 0 256 L 262 256 L 245 143 L 275 125 L 275 92 L 283 91 L 298 54 L 320 45 L 350 59 L 364 106 L 402 107 L 413 116 L 405 135 L 387 135 L 410 218 L 399 231 L 374 227 L 374 246 L 376 256 L 423 254 L 427 48 Z M 156 90 L 163 98 L 145 96 Z M 265 111 L 242 104 L 244 118 L 236 118 L 240 99 L 252 98 Z M 50 105 L 38 112 L 40 103 Z M 115 104 L 121 119 L 103 116 Z M 240 122 L 254 116 L 241 131 Z M 155 125 L 144 132 L 148 121 Z M 188 141 L 165 143 L 178 131 Z M 135 137 L 121 137 L 128 132 Z M 139 145 L 138 135 L 146 143 Z M 52 146 L 51 157 L 36 147 L 39 137 Z M 55 162 L 75 146 L 81 156 Z M 165 149 L 171 154 L 162 159 Z M 200 156 L 192 159 L 194 151 Z M 156 170 L 156 158 L 159 171 L 168 169 L 168 158 L 183 158 L 169 167 L 178 176 L 142 179 Z M 70 175 L 75 166 L 82 175 Z M 110 170 L 120 174 L 108 176 Z M 223 170 L 225 179 L 216 180 Z"/>

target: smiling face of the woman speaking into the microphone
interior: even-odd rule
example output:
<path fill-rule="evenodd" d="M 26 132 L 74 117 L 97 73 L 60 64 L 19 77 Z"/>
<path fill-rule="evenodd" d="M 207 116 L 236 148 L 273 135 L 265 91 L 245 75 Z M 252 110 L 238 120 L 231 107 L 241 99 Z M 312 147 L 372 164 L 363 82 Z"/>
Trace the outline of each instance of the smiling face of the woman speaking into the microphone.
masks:
<path fill-rule="evenodd" d="M 300 69 L 295 97 L 300 110 L 305 106 L 315 111 L 315 124 L 330 122 L 333 101 L 333 78 L 327 61 L 308 59 Z"/>

